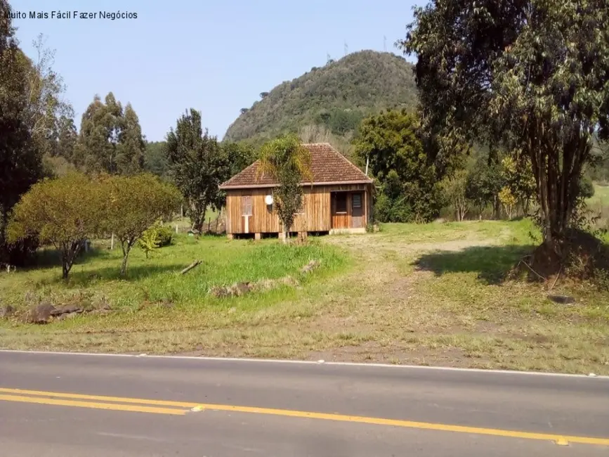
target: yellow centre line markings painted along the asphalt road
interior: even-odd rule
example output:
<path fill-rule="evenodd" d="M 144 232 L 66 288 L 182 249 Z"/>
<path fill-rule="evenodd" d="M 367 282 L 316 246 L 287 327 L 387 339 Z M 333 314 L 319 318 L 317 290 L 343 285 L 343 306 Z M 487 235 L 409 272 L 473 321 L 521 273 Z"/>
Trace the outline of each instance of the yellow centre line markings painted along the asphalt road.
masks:
<path fill-rule="evenodd" d="M 321 420 L 335 420 L 339 422 L 350 422 L 350 423 L 362 423 L 370 425 L 391 425 L 393 427 L 405 427 L 414 428 L 419 430 L 436 430 L 442 432 L 457 432 L 457 433 L 469 433 L 473 435 L 490 435 L 495 437 L 508 437 L 508 438 L 520 438 L 520 439 L 535 439 L 544 440 L 551 442 L 568 442 L 568 443 L 579 443 L 579 444 L 597 444 L 600 446 L 609 446 L 609 438 L 594 438 L 594 437 L 575 437 L 566 435 L 551 435 L 547 433 L 535 433 L 535 432 L 519 432 L 516 430 L 500 430 L 494 428 L 482 428 L 482 427 L 469 427 L 464 425 L 449 425 L 439 423 L 426 423 L 426 422 L 414 422 L 412 420 L 399 420 L 399 419 L 383 419 L 383 418 L 369 418 L 363 416 L 346 416 L 343 414 L 330 414 L 330 413 L 313 413 L 308 411 L 292 411 L 287 409 L 274 409 L 274 408 L 258 408 L 256 406 L 233 406 L 233 405 L 222 405 L 222 404 L 202 404 L 197 402 L 185 402 L 185 401 L 169 401 L 169 400 L 150 400 L 150 399 L 133 399 L 124 397 L 106 397 L 103 395 L 85 395 L 85 394 L 66 394 L 63 392 L 44 392 L 40 390 L 22 390 L 22 389 L 8 389 L 0 387 L 0 392 L 5 392 L 13 395 L 1 395 L 0 401 L 25 401 L 28 403 L 39 403 L 39 404 L 60 404 L 64 406 L 82 406 L 85 408 L 100 408 L 100 409 L 114 409 L 117 411 L 142 411 L 152 413 L 164 413 L 164 414 L 185 414 L 185 410 L 172 409 L 172 408 L 160 408 L 158 406 L 174 406 L 178 408 L 202 408 L 203 410 L 212 411 L 230 411 L 233 413 L 254 413 L 254 414 L 268 414 L 271 416 L 284 416 L 293 418 L 309 418 L 309 419 L 321 419 Z M 28 397 L 37 396 L 37 397 Z M 41 397 L 55 397 L 54 399 L 41 398 Z M 97 403 L 87 401 L 70 401 L 64 399 L 78 399 L 78 400 L 93 400 L 93 401 L 109 401 L 112 403 Z M 122 403 L 122 404 L 116 404 Z M 156 405 L 157 407 L 150 406 L 131 406 L 129 404 L 140 404 L 140 405 Z M 150 411 L 149 411 L 150 410 Z"/>

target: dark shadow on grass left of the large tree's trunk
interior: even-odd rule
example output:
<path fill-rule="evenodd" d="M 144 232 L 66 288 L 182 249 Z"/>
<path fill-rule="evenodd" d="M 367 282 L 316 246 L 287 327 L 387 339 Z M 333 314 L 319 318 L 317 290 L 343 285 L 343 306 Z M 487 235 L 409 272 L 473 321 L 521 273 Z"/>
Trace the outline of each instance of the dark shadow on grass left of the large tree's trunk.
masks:
<path fill-rule="evenodd" d="M 507 273 L 525 255 L 535 249 L 532 245 L 476 246 L 461 251 L 433 252 L 414 262 L 417 269 L 445 273 L 478 273 L 486 284 L 502 283 Z"/>

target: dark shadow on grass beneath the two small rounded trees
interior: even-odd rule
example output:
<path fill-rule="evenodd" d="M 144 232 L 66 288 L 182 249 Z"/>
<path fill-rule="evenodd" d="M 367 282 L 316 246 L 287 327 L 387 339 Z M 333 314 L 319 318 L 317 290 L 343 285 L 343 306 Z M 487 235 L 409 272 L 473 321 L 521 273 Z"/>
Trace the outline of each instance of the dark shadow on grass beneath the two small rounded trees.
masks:
<path fill-rule="evenodd" d="M 75 265 L 76 266 L 76 265 Z M 77 266 L 76 266 L 77 267 Z M 67 285 L 82 286 L 90 285 L 100 281 L 139 281 L 142 278 L 150 278 L 160 274 L 177 274 L 184 268 L 184 264 L 169 264 L 169 265 L 135 265 L 128 266 L 125 276 L 120 275 L 120 262 L 116 266 L 107 266 L 104 268 L 91 269 L 90 271 L 70 271 Z M 58 276 L 55 282 L 62 282 Z"/>

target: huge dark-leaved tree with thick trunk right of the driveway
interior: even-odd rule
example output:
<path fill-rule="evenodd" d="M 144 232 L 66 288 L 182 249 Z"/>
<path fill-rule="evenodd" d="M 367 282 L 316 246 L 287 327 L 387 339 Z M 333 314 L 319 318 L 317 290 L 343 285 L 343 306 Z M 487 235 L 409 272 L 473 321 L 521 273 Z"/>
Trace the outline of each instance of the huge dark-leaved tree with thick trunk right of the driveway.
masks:
<path fill-rule="evenodd" d="M 424 123 L 528 157 L 546 252 L 565 258 L 594 134 L 609 136 L 605 0 L 432 0 L 407 37 Z"/>

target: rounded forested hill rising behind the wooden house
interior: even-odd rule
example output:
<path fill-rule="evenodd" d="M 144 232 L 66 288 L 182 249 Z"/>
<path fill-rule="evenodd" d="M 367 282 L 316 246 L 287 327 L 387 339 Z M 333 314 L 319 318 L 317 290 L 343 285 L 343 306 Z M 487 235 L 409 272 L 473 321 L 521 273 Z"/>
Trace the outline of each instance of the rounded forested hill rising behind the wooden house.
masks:
<path fill-rule="evenodd" d="M 371 112 L 414 110 L 417 104 L 412 64 L 376 51 L 330 60 L 260 96 L 251 108 L 242 108 L 225 140 L 266 139 L 308 124 L 325 124 L 334 134 L 344 135 Z"/>

